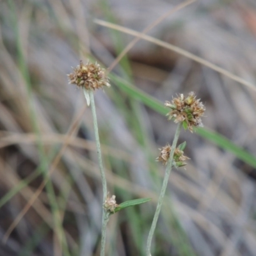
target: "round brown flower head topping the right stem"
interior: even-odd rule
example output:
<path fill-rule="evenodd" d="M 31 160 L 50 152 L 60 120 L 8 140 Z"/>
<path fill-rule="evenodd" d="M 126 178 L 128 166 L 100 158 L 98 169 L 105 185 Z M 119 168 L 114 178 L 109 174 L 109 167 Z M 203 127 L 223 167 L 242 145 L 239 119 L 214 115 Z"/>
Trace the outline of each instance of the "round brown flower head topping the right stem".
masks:
<path fill-rule="evenodd" d="M 182 122 L 184 129 L 188 128 L 193 132 L 193 127 L 203 126 L 201 116 L 204 114 L 205 106 L 200 99 L 196 99 L 194 92 L 190 92 L 186 98 L 180 94 L 172 102 L 166 101 L 164 105 L 172 109 L 167 114 L 168 120 L 174 119 L 175 123 Z"/>

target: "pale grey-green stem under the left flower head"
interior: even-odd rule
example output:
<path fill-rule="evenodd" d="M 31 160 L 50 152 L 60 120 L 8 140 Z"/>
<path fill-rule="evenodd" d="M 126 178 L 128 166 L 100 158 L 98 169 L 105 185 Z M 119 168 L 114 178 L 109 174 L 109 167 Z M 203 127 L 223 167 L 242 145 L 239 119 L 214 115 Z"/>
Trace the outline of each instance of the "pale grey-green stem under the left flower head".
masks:
<path fill-rule="evenodd" d="M 84 89 L 85 90 L 85 89 Z M 101 182 L 102 182 L 102 188 L 103 188 L 103 202 L 102 202 L 102 227 L 101 227 L 101 246 L 100 246 L 100 256 L 105 255 L 105 244 L 106 244 L 106 227 L 109 220 L 109 213 L 104 209 L 104 200 L 107 198 L 107 181 L 105 172 L 103 169 L 102 164 L 102 156 L 101 156 L 101 150 L 100 150 L 100 138 L 99 138 L 99 129 L 97 124 L 97 115 L 96 115 L 96 108 L 95 108 L 95 102 L 93 97 L 93 91 L 89 90 L 89 96 L 90 96 L 90 103 L 92 106 L 92 116 L 93 116 L 93 128 L 95 132 L 95 141 L 96 141 L 96 147 L 97 147 L 97 154 L 98 154 L 98 161 L 99 161 L 99 167 L 100 167 L 100 175 L 101 175 Z"/>

